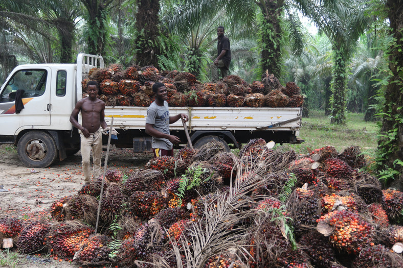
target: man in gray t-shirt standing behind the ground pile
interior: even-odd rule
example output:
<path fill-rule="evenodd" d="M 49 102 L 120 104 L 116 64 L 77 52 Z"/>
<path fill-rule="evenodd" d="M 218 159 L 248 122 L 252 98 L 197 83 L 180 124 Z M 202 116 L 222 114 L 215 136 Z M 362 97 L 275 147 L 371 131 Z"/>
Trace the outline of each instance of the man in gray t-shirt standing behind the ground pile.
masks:
<path fill-rule="evenodd" d="M 155 93 L 155 101 L 147 109 L 146 133 L 152 136 L 154 157 L 173 156 L 173 144 L 178 144 L 181 140 L 170 134 L 169 124 L 181 118 L 186 122 L 189 117 L 184 113 L 169 116 L 167 88 L 163 83 L 154 83 L 152 91 Z"/>

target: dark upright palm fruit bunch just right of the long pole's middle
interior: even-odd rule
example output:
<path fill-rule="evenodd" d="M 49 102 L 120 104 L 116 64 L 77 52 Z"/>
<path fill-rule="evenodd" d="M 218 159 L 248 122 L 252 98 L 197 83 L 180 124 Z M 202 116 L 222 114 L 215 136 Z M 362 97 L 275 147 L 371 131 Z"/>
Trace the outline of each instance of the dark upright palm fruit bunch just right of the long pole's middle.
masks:
<path fill-rule="evenodd" d="M 115 215 L 120 215 L 123 204 L 125 204 L 125 196 L 119 185 L 110 183 L 102 196 L 100 210 L 102 220 L 107 224 L 112 223 L 115 220 Z"/>

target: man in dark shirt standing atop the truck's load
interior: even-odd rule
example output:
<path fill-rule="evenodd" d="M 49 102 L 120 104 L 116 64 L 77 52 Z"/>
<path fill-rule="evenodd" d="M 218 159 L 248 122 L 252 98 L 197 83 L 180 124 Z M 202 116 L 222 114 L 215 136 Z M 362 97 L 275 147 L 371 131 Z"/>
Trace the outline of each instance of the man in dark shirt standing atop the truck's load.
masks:
<path fill-rule="evenodd" d="M 213 82 L 218 80 L 218 69 L 221 70 L 221 77 L 228 76 L 231 63 L 230 39 L 224 35 L 224 27 L 217 28 L 217 58 L 211 65 L 211 76 Z"/>

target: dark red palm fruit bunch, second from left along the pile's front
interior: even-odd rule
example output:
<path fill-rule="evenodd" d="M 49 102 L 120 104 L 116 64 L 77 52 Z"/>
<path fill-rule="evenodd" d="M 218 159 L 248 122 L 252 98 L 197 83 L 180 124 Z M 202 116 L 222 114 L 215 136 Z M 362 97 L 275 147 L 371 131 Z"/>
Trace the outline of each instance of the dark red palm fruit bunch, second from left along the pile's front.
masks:
<path fill-rule="evenodd" d="M 31 222 L 25 226 L 17 240 L 18 251 L 30 254 L 42 250 L 46 245 L 46 237 L 50 228 L 50 224 L 38 221 Z"/>

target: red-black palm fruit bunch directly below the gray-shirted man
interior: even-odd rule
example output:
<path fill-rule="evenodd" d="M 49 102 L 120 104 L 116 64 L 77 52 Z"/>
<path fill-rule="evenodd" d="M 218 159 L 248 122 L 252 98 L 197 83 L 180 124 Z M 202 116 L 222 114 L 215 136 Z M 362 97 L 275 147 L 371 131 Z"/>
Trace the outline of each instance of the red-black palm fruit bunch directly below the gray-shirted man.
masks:
<path fill-rule="evenodd" d="M 186 164 L 173 156 L 160 156 L 148 161 L 145 168 L 161 170 L 166 178 L 174 178 L 185 173 Z"/>

